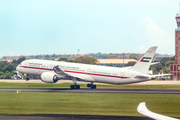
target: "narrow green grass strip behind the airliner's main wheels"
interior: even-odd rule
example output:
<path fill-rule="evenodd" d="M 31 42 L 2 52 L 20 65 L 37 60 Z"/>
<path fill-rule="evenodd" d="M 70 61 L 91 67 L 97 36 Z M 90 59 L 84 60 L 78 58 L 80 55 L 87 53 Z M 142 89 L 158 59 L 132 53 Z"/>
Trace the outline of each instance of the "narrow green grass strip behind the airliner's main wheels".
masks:
<path fill-rule="evenodd" d="M 69 88 L 72 83 L 6 83 L 0 82 L 0 87 L 43 87 L 43 88 Z M 87 88 L 86 84 L 79 84 Z M 110 85 L 97 84 L 97 88 L 116 89 L 180 89 L 180 85 Z"/>

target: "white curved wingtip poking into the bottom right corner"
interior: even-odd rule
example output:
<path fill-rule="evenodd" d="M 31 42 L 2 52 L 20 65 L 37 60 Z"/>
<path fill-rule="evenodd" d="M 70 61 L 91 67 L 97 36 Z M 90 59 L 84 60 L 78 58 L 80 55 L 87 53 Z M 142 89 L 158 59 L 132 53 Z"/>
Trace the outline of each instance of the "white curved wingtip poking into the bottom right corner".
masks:
<path fill-rule="evenodd" d="M 172 117 L 168 117 L 168 116 L 164 116 L 164 115 L 160 115 L 154 112 L 151 112 L 147 109 L 145 102 L 141 102 L 138 105 L 137 111 L 147 117 L 153 118 L 155 120 L 179 120 L 179 119 L 175 119 Z"/>

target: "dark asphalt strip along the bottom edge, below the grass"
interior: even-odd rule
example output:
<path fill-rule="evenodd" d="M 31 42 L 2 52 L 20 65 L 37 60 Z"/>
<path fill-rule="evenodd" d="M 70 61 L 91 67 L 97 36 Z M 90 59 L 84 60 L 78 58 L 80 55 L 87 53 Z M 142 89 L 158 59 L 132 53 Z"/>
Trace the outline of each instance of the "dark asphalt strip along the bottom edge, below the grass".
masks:
<path fill-rule="evenodd" d="M 1 120 L 153 120 L 148 117 L 131 116 L 103 116 L 103 115 L 60 115 L 60 114 L 34 114 L 34 115 L 1 115 Z"/>

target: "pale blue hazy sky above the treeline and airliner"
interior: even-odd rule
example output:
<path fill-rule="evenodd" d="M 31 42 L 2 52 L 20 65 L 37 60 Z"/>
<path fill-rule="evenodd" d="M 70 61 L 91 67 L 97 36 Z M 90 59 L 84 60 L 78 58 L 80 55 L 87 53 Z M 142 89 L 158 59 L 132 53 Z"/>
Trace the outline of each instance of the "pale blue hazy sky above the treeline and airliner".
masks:
<path fill-rule="evenodd" d="M 0 57 L 175 54 L 180 0 L 0 0 Z"/>

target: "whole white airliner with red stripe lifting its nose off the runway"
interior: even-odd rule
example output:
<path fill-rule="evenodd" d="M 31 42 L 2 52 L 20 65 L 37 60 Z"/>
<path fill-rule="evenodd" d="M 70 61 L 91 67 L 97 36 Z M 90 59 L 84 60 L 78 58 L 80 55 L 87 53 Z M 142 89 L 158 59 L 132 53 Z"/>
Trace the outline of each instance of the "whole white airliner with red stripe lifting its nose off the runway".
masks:
<path fill-rule="evenodd" d="M 87 84 L 91 89 L 96 89 L 94 82 L 109 84 L 144 82 L 153 78 L 148 71 L 156 49 L 156 46 L 149 48 L 131 68 L 30 59 L 21 62 L 16 70 L 27 75 L 40 75 L 41 80 L 47 83 L 56 83 L 61 79 L 72 80 L 74 85 L 70 86 L 71 89 L 80 88 L 76 84 L 77 81 L 91 82 Z M 28 77 L 27 80 L 29 80 Z"/>

